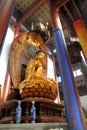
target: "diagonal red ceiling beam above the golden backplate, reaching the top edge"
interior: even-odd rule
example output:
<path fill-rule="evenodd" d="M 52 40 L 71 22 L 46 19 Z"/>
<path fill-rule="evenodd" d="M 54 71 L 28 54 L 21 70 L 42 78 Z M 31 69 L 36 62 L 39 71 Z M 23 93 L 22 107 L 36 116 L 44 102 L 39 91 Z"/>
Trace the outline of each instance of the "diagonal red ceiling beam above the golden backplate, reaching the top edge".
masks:
<path fill-rule="evenodd" d="M 27 13 L 18 21 L 18 24 L 24 23 L 37 9 L 39 9 L 46 0 L 40 0 L 38 4 L 35 4 L 34 7 L 30 10 L 27 11 Z"/>

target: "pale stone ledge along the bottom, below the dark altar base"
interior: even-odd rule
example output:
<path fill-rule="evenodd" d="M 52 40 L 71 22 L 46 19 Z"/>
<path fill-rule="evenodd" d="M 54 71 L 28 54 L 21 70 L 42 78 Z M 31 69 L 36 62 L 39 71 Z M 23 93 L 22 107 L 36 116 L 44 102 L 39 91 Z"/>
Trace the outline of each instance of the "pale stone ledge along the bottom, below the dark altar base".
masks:
<path fill-rule="evenodd" d="M 0 130 L 69 130 L 66 123 L 0 124 Z"/>

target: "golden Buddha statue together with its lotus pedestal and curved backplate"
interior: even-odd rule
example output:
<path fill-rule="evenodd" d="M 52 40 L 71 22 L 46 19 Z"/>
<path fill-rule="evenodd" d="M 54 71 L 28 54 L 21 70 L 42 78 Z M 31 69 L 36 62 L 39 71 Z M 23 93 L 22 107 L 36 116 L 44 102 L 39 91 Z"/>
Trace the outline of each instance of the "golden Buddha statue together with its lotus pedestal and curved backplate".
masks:
<path fill-rule="evenodd" d="M 32 54 L 32 49 L 35 54 Z M 25 61 L 20 62 L 22 53 L 28 58 L 23 81 L 20 78 L 21 64 Z M 39 34 L 28 32 L 17 37 L 11 47 L 9 63 L 14 88 L 19 89 L 23 99 L 56 99 L 58 86 L 55 80 L 47 78 L 47 52 Z"/>

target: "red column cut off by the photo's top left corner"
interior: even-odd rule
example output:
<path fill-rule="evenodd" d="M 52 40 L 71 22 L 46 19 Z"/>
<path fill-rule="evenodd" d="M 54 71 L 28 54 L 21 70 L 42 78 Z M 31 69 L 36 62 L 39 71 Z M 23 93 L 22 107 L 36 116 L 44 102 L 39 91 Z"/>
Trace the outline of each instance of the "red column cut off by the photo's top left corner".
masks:
<path fill-rule="evenodd" d="M 8 27 L 9 18 L 12 14 L 15 0 L 0 1 L 0 46 L 4 40 L 4 36 Z"/>

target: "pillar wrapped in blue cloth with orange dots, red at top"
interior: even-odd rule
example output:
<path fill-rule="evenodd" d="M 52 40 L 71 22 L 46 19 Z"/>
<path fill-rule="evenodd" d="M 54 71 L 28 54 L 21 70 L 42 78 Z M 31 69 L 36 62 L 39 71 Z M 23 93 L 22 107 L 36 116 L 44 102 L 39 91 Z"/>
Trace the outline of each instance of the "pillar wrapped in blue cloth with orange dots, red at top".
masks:
<path fill-rule="evenodd" d="M 64 101 L 69 130 L 86 130 L 86 121 L 82 111 L 76 83 L 71 69 L 70 59 L 62 30 L 59 29 L 59 16 L 54 2 L 50 0 L 51 18 L 54 27 L 54 40 L 63 85 Z"/>

